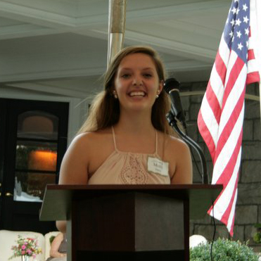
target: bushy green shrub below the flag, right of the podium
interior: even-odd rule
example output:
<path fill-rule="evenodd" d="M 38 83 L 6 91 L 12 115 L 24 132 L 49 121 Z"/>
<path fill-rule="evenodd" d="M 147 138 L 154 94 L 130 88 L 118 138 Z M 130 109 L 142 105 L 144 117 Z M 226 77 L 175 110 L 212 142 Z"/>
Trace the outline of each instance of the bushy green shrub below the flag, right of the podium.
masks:
<path fill-rule="evenodd" d="M 190 250 L 191 261 L 210 261 L 211 243 L 200 244 Z M 218 238 L 212 246 L 214 261 L 257 261 L 258 257 L 247 243 Z"/>

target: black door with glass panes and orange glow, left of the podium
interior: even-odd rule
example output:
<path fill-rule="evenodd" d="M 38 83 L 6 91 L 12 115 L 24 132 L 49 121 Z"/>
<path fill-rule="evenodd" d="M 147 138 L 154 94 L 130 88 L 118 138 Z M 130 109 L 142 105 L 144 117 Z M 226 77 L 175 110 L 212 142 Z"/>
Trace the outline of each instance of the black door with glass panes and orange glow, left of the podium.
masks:
<path fill-rule="evenodd" d="M 68 109 L 64 102 L 0 98 L 0 229 L 56 230 L 54 222 L 39 222 L 39 209 L 46 184 L 58 182 Z"/>

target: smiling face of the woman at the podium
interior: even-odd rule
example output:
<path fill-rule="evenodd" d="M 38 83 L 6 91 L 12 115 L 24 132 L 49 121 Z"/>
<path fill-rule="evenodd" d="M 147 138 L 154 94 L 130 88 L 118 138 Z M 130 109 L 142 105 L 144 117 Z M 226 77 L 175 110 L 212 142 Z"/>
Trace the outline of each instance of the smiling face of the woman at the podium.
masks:
<path fill-rule="evenodd" d="M 163 89 L 151 56 L 132 53 L 122 59 L 115 75 L 121 110 L 150 110 Z"/>

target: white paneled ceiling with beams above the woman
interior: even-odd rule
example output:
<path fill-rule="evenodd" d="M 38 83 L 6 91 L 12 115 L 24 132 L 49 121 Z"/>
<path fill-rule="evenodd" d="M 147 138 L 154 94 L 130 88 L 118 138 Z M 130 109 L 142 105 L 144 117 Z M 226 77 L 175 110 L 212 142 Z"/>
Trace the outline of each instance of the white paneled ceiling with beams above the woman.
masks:
<path fill-rule="evenodd" d="M 127 0 L 125 45 L 160 52 L 181 82 L 208 80 L 231 0 Z M 101 87 L 108 0 L 0 1 L 0 91 L 84 98 Z"/>

